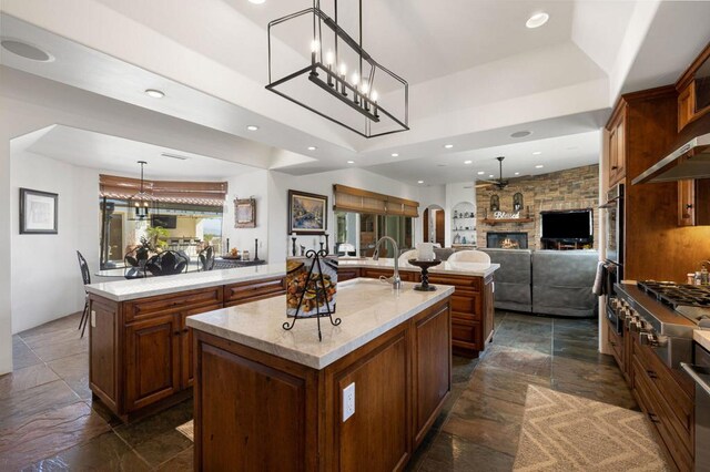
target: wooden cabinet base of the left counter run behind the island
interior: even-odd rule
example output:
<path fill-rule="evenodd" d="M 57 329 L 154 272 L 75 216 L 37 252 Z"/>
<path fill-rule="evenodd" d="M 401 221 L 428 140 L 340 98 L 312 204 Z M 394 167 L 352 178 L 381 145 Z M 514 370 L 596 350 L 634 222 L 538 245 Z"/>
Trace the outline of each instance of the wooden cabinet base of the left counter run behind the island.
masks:
<path fill-rule="evenodd" d="M 92 392 L 123 421 L 191 394 L 193 332 L 186 318 L 284 294 L 283 277 L 115 302 L 91 295 Z"/>

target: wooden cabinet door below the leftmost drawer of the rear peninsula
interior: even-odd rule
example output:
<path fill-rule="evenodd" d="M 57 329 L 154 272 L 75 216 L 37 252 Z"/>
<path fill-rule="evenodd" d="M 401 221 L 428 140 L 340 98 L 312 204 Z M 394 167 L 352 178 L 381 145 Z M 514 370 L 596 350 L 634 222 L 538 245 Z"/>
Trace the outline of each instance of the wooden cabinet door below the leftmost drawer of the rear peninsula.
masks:
<path fill-rule="evenodd" d="M 180 316 L 165 315 L 125 327 L 126 411 L 181 390 Z"/>

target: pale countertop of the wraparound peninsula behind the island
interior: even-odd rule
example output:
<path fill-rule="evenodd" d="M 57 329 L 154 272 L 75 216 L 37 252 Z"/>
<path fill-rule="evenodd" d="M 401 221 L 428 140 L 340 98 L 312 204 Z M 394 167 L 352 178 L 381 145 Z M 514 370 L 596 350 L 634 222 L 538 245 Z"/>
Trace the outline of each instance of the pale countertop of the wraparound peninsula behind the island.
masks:
<path fill-rule="evenodd" d="M 393 269 L 394 259 L 348 259 L 339 258 L 339 267 Z M 429 269 L 429 274 L 453 274 L 470 277 L 488 277 L 500 268 L 499 264 L 449 263 L 444 261 Z M 418 267 L 406 261 L 399 265 L 400 270 L 419 271 Z M 132 280 L 115 280 L 87 285 L 87 291 L 113 301 L 129 301 L 156 295 L 176 294 L 180 291 L 219 285 L 237 284 L 270 277 L 284 277 L 285 264 L 266 264 L 263 266 L 239 267 L 232 269 L 186 273 L 173 276 L 148 277 Z"/>

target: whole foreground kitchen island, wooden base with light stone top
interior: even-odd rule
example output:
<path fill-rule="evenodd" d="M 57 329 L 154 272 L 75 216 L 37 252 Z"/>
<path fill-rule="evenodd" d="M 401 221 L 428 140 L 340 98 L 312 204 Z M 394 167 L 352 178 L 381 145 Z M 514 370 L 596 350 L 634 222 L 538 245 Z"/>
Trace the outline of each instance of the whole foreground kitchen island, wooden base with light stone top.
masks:
<path fill-rule="evenodd" d="M 191 316 L 196 470 L 398 470 L 450 393 L 453 287 L 338 284 L 333 326 L 285 296 Z M 354 411 L 347 411 L 352 389 Z"/>

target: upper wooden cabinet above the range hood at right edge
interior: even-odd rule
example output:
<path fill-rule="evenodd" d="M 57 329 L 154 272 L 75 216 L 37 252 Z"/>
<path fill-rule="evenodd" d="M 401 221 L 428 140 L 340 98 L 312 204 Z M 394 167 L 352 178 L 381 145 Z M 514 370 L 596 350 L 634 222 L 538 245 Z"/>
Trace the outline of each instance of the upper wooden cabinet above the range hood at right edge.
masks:
<path fill-rule="evenodd" d="M 710 113 L 710 43 L 678 82 L 678 131 Z"/>

